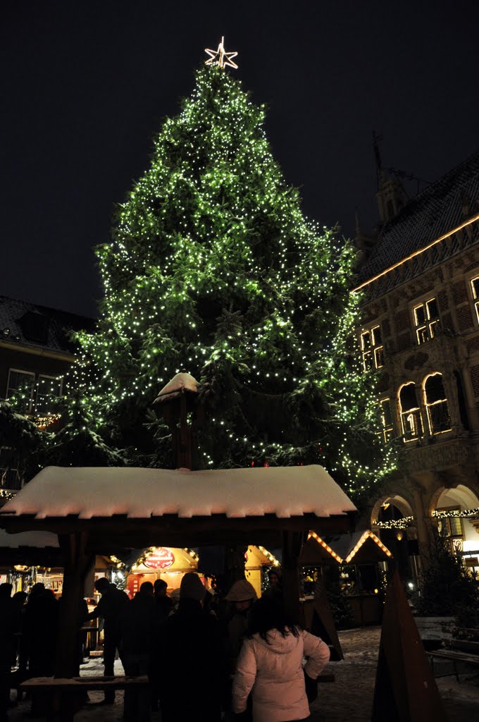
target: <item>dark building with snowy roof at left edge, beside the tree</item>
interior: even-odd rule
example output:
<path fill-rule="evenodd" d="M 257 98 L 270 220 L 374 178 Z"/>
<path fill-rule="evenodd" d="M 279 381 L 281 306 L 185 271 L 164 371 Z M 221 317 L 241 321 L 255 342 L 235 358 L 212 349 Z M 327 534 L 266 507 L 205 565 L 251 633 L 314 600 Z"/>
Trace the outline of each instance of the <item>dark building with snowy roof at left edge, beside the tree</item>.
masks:
<path fill-rule="evenodd" d="M 0 399 L 21 393 L 22 412 L 48 426 L 52 401 L 61 396 L 63 375 L 75 360 L 69 331 L 93 325 L 91 318 L 0 296 Z M 0 445 L 0 492 L 22 483 L 15 450 Z"/>

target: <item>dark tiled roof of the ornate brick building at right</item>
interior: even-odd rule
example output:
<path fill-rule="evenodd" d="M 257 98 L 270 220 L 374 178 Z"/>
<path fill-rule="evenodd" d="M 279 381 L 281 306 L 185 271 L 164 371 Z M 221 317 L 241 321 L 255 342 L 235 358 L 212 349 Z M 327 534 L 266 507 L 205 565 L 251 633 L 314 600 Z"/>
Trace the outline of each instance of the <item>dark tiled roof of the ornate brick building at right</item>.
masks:
<path fill-rule="evenodd" d="M 384 225 L 359 272 L 357 285 L 462 225 L 467 220 L 464 202 L 470 216 L 479 213 L 479 151 L 418 193 Z"/>

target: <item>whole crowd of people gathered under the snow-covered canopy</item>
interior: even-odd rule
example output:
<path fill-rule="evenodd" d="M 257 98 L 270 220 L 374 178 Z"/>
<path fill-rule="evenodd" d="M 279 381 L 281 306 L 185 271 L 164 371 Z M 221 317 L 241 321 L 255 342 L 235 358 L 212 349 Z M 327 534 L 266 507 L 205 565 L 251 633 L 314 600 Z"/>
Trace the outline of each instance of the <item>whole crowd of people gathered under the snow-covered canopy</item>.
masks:
<path fill-rule="evenodd" d="M 162 722 L 308 718 L 306 690 L 309 684 L 315 687 L 312 680 L 328 663 L 329 648 L 288 619 L 281 575 L 275 567 L 260 599 L 253 586 L 241 579 L 222 604 L 214 603 L 193 572 L 183 576 L 179 591 L 171 596 L 161 579 L 154 585 L 142 583 L 133 599 L 106 578 L 97 580 L 95 587 L 100 601 L 93 612 L 86 604 L 82 607 L 79 630 L 88 619 L 103 620 L 105 677 L 113 677 L 117 654 L 126 676 L 149 677 L 148 686 L 126 688 L 126 722 L 148 722 L 151 711 L 158 709 Z M 27 604 L 25 596 L 20 601 L 11 596 L 10 585 L 0 586 L 2 619 L 12 619 L 9 633 L 2 625 L 0 639 L 0 722 L 7 719 L 6 672 L 14 658 L 25 677 L 48 677 L 54 671 L 52 640 L 61 601 L 41 584 L 32 588 Z M 178 696 L 172 690 L 180 682 L 185 694 Z M 115 692 L 107 690 L 97 704 L 114 701 Z"/>

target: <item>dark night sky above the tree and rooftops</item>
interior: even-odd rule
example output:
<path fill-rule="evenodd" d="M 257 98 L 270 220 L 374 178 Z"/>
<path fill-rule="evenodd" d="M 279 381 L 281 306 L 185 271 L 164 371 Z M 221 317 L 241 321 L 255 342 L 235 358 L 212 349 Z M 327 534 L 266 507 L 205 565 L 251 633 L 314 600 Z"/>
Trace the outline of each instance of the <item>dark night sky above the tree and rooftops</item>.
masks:
<path fill-rule="evenodd" d="M 2 16 L 0 295 L 95 313 L 92 248 L 221 35 L 304 211 L 344 235 L 356 207 L 377 221 L 373 129 L 384 166 L 423 181 L 479 146 L 477 0 L 9 0 Z"/>

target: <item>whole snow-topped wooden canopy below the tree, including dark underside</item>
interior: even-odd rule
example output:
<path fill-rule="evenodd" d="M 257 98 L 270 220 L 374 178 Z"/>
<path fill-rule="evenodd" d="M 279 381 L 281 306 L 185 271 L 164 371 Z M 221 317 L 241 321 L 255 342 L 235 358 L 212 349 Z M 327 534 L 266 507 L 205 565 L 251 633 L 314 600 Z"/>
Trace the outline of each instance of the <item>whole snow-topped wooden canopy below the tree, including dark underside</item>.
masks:
<path fill-rule="evenodd" d="M 49 466 L 0 510 L 9 531 L 88 531 L 98 553 L 146 546 L 278 544 L 281 531 L 351 529 L 322 466 L 189 471 Z M 176 543 L 175 543 L 176 542 Z"/>

